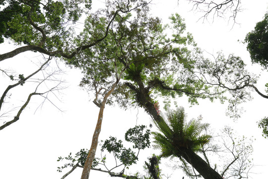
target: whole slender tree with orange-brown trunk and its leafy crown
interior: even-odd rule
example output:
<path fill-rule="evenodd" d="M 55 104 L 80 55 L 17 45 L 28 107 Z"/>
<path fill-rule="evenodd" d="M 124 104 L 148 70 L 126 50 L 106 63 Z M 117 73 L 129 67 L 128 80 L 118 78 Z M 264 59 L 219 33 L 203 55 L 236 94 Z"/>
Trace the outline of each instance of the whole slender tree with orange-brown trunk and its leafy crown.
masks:
<path fill-rule="evenodd" d="M 139 16 L 144 18 L 147 14 L 147 3 L 142 0 L 134 1 L 134 3 L 130 0 L 108 2 L 107 6 L 108 9 L 98 10 L 87 17 L 85 30 L 75 41 L 82 44 L 91 39 L 104 36 L 104 34 L 106 34 L 106 38 L 91 49 L 84 50 L 73 59 L 65 59 L 67 64 L 82 70 L 84 78 L 81 81 L 81 86 L 87 86 L 89 87 L 88 90 L 93 89 L 95 91 L 96 97 L 93 102 L 100 107 L 91 148 L 85 161 L 81 179 L 89 178 L 89 172 L 98 145 L 105 104 L 109 102 L 108 97 L 118 88 L 123 72 L 129 64 L 133 63 L 129 54 L 133 53 L 136 47 L 130 43 L 130 39 L 137 36 L 137 32 L 135 32 L 136 25 L 141 23 Z M 107 32 L 105 27 L 111 22 L 110 18 L 114 17 L 113 13 L 119 12 L 117 9 L 120 9 L 126 15 L 118 15 L 111 23 L 111 29 Z M 133 21 L 133 24 L 127 21 L 131 17 L 131 13 L 128 12 L 131 11 L 137 13 L 134 19 L 138 21 Z M 106 16 L 103 16 L 103 13 Z M 129 24 L 131 24 L 130 29 Z M 142 38 L 146 37 L 143 35 Z"/>

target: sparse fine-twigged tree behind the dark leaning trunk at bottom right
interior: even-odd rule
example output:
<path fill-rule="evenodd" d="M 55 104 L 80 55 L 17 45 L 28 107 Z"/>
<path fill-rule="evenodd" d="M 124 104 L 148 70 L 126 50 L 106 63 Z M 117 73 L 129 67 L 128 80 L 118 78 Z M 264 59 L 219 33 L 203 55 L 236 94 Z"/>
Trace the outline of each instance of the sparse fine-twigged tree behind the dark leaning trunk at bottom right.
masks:
<path fill-rule="evenodd" d="M 213 129 L 212 129 L 213 130 Z M 222 178 L 248 179 L 250 170 L 253 167 L 252 152 L 253 139 L 245 136 L 238 136 L 228 126 L 221 129 L 216 135 L 211 128 L 206 129 L 202 134 L 213 135 L 208 143 L 201 144 L 198 155 L 213 168 Z M 213 157 L 212 157 L 213 156 Z M 178 158 L 170 158 L 172 169 L 182 169 L 189 177 L 196 179 L 201 177 L 194 168 L 187 168 Z"/>

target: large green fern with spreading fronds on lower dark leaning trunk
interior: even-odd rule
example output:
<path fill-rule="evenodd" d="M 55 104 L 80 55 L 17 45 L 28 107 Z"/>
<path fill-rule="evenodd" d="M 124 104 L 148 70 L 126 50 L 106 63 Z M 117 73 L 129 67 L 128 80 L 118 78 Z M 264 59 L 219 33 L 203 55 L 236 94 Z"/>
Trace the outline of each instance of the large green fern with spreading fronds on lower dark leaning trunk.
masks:
<path fill-rule="evenodd" d="M 155 140 L 154 148 L 161 149 L 163 156 L 179 157 L 177 154 L 180 153 L 180 148 L 190 148 L 198 152 L 201 146 L 211 139 L 210 135 L 201 135 L 201 132 L 209 125 L 201 123 L 201 116 L 188 123 L 186 117 L 184 108 L 179 107 L 176 110 L 168 109 L 166 116 L 161 115 L 163 119 L 161 122 L 154 121 L 159 130 L 159 132 L 152 132 Z M 189 166 L 186 165 L 186 169 L 187 167 Z"/>

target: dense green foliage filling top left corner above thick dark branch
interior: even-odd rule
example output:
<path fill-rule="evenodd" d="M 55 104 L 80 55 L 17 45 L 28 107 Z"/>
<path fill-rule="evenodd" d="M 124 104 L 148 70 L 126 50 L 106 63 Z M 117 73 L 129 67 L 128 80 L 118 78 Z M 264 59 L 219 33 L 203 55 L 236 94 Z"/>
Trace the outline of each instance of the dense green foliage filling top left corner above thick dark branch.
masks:
<path fill-rule="evenodd" d="M 16 44 L 40 45 L 62 50 L 72 37 L 74 24 L 88 12 L 91 0 L 6 0 L 0 11 L 0 43 L 4 38 Z M 84 8 L 85 4 L 87 8 Z"/>

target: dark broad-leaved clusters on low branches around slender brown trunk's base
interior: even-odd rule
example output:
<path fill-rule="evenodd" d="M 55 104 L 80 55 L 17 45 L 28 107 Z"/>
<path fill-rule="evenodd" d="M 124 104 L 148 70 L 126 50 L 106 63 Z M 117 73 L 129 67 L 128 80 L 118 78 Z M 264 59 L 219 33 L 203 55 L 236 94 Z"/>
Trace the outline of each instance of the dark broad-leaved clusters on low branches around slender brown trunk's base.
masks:
<path fill-rule="evenodd" d="M 134 143 L 134 149 L 143 150 L 150 146 L 150 131 L 146 129 L 144 125 L 135 126 L 134 128 L 130 128 L 126 134 L 125 139 L 128 142 Z M 116 159 L 124 165 L 125 167 L 129 167 L 133 164 L 136 164 L 138 160 L 138 153 L 136 154 L 131 148 L 127 149 L 123 146 L 122 140 L 117 140 L 116 137 L 110 136 L 109 139 L 105 140 L 103 144 L 101 144 L 101 151 L 108 151 L 112 153 Z M 71 153 L 67 157 L 59 157 L 58 162 L 67 161 L 62 167 L 58 167 L 58 172 L 62 172 L 63 169 L 67 167 L 74 167 L 75 165 L 79 165 L 79 167 L 83 167 L 88 156 L 87 149 L 81 149 L 79 152 L 75 154 L 73 157 Z M 105 165 L 106 156 L 99 158 L 94 158 L 92 163 L 92 168 L 96 168 L 99 164 Z M 117 165 L 119 167 L 121 165 Z M 115 168 L 116 168 L 115 167 Z"/>

